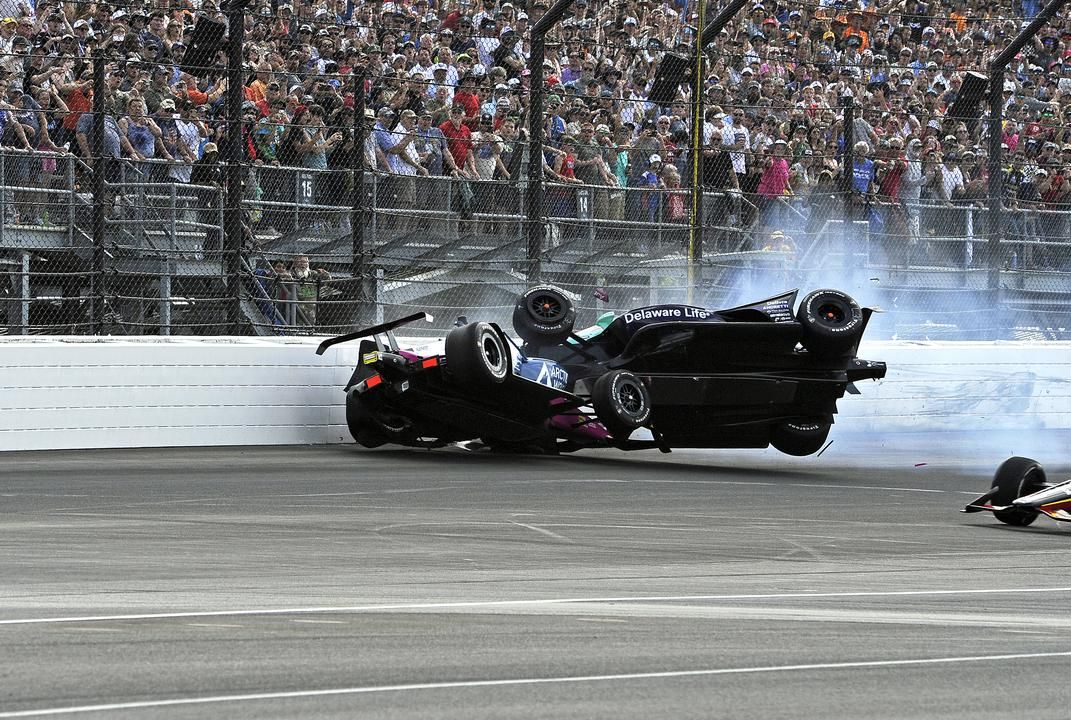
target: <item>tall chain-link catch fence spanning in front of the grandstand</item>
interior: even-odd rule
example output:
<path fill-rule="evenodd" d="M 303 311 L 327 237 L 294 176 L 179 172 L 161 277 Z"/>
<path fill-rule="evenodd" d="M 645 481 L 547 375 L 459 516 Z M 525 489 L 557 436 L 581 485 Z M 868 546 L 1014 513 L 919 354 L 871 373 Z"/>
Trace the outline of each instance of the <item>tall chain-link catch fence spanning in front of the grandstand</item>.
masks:
<path fill-rule="evenodd" d="M 553 282 L 582 324 L 834 286 L 888 311 L 875 338 L 1067 336 L 1059 16 L 1004 72 L 995 138 L 987 73 L 1021 9 L 748 6 L 693 90 L 667 71 L 702 27 L 683 11 L 663 9 L 669 31 L 642 3 L 625 13 L 643 21 L 573 9 L 532 88 L 512 5 L 512 27 L 492 3 L 467 25 L 464 9 L 432 12 L 414 34 L 412 9 L 384 26 L 358 3 L 332 25 L 322 4 L 285 32 L 283 8 L 251 9 L 237 74 L 222 47 L 183 64 L 183 43 L 157 48 L 151 27 L 136 46 L 74 32 L 74 49 L 63 28 L 34 35 L 59 49 L 9 44 L 0 328 L 326 334 L 427 310 L 440 332 L 457 315 L 507 322 L 521 290 Z M 63 22 L 136 29 L 88 12 Z M 188 14 L 179 36 L 205 17 L 221 19 Z"/>

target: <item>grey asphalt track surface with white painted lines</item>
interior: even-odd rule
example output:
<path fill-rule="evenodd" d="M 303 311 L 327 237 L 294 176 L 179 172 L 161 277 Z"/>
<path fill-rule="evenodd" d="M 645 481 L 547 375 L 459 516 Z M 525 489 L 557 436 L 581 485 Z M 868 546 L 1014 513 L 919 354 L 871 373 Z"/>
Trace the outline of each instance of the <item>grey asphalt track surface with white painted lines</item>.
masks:
<path fill-rule="evenodd" d="M 1009 450 L 2 455 L 0 718 L 1067 718 Z"/>

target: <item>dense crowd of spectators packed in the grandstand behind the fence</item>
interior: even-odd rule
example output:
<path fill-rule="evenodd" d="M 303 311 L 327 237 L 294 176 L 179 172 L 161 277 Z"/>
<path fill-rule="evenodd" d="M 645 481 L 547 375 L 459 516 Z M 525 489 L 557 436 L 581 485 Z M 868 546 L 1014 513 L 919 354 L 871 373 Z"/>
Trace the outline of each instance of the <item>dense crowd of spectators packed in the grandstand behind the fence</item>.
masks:
<path fill-rule="evenodd" d="M 349 204 L 358 151 L 352 73 L 363 68 L 363 162 L 382 175 L 384 205 L 429 207 L 442 191 L 428 190 L 425 176 L 463 181 L 449 183 L 463 211 L 515 201 L 528 162 L 530 30 L 548 4 L 255 0 L 241 73 L 241 152 L 260 168 L 248 193 Z M 21 151 L 5 164 L 7 184 L 63 181 L 52 153 L 88 166 L 101 162 L 95 155 L 123 159 L 154 181 L 222 183 L 225 176 L 199 166 L 228 152 L 226 55 L 202 68 L 184 59 L 196 25 L 225 22 L 223 10 L 216 0 L 0 0 L 0 135 Z M 989 140 L 984 103 L 981 120 L 948 110 L 966 74 L 984 72 L 1038 11 L 1038 0 L 746 5 L 709 47 L 700 89 L 705 184 L 726 197 L 738 192 L 744 201 L 720 210 L 760 231 L 813 229 L 847 197 L 859 219 L 911 244 L 951 232 L 930 227 L 941 215 L 927 218 L 924 208 L 984 204 Z M 536 162 L 552 182 L 548 214 L 688 222 L 681 188 L 689 185 L 695 99 L 688 82 L 665 104 L 648 93 L 666 56 L 691 55 L 707 20 L 687 0 L 572 3 L 543 57 L 545 150 Z M 94 150 L 99 51 L 106 122 L 104 148 Z M 856 108 L 848 174 L 845 96 Z M 1062 215 L 1035 211 L 1061 210 L 1071 199 L 1067 12 L 1015 56 L 1004 115 L 1012 226 L 1026 238 L 1066 236 Z M 210 147 L 218 152 L 206 160 Z M 276 167 L 318 171 L 312 194 L 297 197 Z M 845 175 L 850 193 L 839 184 Z M 587 189 L 583 209 L 574 185 Z M 44 222 L 34 202 L 15 200 L 5 205 L 7 220 Z M 258 220 L 285 231 L 287 216 L 269 209 Z M 408 220 L 399 213 L 398 225 Z M 957 221 L 954 231 L 963 230 Z M 1039 251 L 1030 261 L 1054 260 Z"/>

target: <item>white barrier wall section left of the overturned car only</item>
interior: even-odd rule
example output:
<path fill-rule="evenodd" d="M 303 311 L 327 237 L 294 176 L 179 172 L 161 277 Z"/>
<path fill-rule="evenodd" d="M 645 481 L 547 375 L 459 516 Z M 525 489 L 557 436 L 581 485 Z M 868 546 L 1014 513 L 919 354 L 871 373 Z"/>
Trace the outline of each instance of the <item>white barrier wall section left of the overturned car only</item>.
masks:
<path fill-rule="evenodd" d="M 0 340 L 0 450 L 349 440 L 357 344 Z"/>

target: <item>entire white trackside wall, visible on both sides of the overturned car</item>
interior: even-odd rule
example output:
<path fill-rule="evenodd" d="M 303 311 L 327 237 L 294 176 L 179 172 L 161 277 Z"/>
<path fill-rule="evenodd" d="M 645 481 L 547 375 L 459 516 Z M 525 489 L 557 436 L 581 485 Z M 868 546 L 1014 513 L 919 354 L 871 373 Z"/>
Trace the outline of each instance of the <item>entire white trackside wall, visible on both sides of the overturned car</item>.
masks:
<path fill-rule="evenodd" d="M 0 450 L 349 442 L 355 343 L 0 339 Z M 839 430 L 1071 428 L 1071 343 L 874 343 Z"/>

